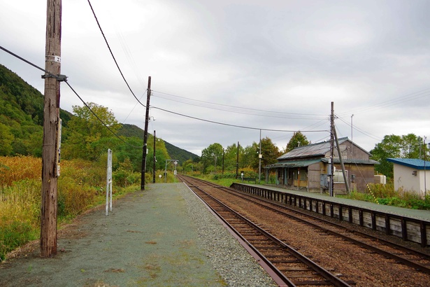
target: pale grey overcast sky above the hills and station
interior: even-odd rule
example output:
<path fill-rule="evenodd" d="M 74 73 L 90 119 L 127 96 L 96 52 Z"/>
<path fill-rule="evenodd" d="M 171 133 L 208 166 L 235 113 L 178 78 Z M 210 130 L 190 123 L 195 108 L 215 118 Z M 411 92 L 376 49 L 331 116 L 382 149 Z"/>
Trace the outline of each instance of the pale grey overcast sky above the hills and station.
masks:
<path fill-rule="evenodd" d="M 430 1 L 91 3 L 143 104 L 152 78 L 149 131 L 197 155 L 258 143 L 260 129 L 280 149 L 294 131 L 329 140 L 331 102 L 338 137 L 367 151 L 387 134 L 430 137 Z M 68 83 L 143 128 L 145 108 L 89 3 L 62 5 Z M 44 68 L 45 23 L 45 0 L 1 1 L 0 45 Z M 43 93 L 42 71 L 3 50 L 0 63 Z M 62 109 L 76 105 L 63 83 Z"/>

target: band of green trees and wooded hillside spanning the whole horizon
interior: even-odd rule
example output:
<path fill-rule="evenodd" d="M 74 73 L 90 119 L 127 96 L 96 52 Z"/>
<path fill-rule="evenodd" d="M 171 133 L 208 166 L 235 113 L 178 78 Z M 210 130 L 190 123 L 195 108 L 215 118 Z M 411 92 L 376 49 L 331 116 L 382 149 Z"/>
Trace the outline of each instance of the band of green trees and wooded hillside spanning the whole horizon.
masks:
<path fill-rule="evenodd" d="M 62 158 L 104 160 L 108 148 L 115 151 L 114 168 L 128 162 L 133 172 L 141 171 L 143 130 L 134 125 L 121 125 L 107 107 L 87 103 L 109 130 L 85 106 L 73 106 L 73 114 L 60 111 L 63 120 Z M 41 157 L 43 137 L 43 94 L 28 85 L 5 66 L 0 65 L 0 155 L 33 155 Z M 148 135 L 147 170 L 152 172 L 153 137 Z M 261 139 L 261 167 L 277 162 L 283 153 L 310 141 L 301 132 L 294 132 L 285 149 L 280 151 L 268 137 Z M 392 178 L 393 166 L 387 158 L 429 158 L 429 148 L 415 134 L 386 135 L 371 151 L 380 162 L 375 171 Z M 259 143 L 250 146 L 231 144 L 223 147 L 213 143 L 201 157 L 175 147 L 162 139 L 156 141 L 156 169 L 164 169 L 165 160 L 179 160 L 183 171 L 203 173 L 236 173 L 236 169 L 259 168 Z"/>

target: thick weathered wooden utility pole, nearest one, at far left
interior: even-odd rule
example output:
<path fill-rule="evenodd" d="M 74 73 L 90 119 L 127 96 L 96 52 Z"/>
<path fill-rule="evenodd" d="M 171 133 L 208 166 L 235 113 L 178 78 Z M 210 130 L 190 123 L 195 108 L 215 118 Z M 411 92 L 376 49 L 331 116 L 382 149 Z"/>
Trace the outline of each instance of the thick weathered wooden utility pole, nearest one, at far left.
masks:
<path fill-rule="evenodd" d="M 61 70 L 62 0 L 48 0 L 46 18 L 45 70 Z M 41 256 L 57 254 L 57 157 L 59 124 L 59 80 L 45 73 L 43 110 Z"/>

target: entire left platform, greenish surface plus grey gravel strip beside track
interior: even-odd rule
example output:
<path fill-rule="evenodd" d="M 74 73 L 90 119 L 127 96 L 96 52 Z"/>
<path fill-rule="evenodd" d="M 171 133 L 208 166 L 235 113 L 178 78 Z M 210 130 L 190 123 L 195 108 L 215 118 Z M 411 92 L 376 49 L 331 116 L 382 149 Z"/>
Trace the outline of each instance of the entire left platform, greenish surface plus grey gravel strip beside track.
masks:
<path fill-rule="evenodd" d="M 156 183 L 59 231 L 55 258 L 0 264 L 0 286 L 276 286 L 183 183 Z"/>

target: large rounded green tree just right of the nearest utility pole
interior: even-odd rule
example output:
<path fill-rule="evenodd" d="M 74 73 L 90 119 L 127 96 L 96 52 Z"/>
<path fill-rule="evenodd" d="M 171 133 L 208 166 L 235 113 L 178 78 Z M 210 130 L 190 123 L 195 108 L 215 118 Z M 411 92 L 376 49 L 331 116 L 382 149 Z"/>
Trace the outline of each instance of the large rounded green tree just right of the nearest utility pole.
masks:
<path fill-rule="evenodd" d="M 73 106 L 75 117 L 68 123 L 69 136 L 62 147 L 65 158 L 95 160 L 107 150 L 106 143 L 113 140 L 121 127 L 108 108 L 94 103 L 87 105 L 97 117 L 86 106 Z"/>

